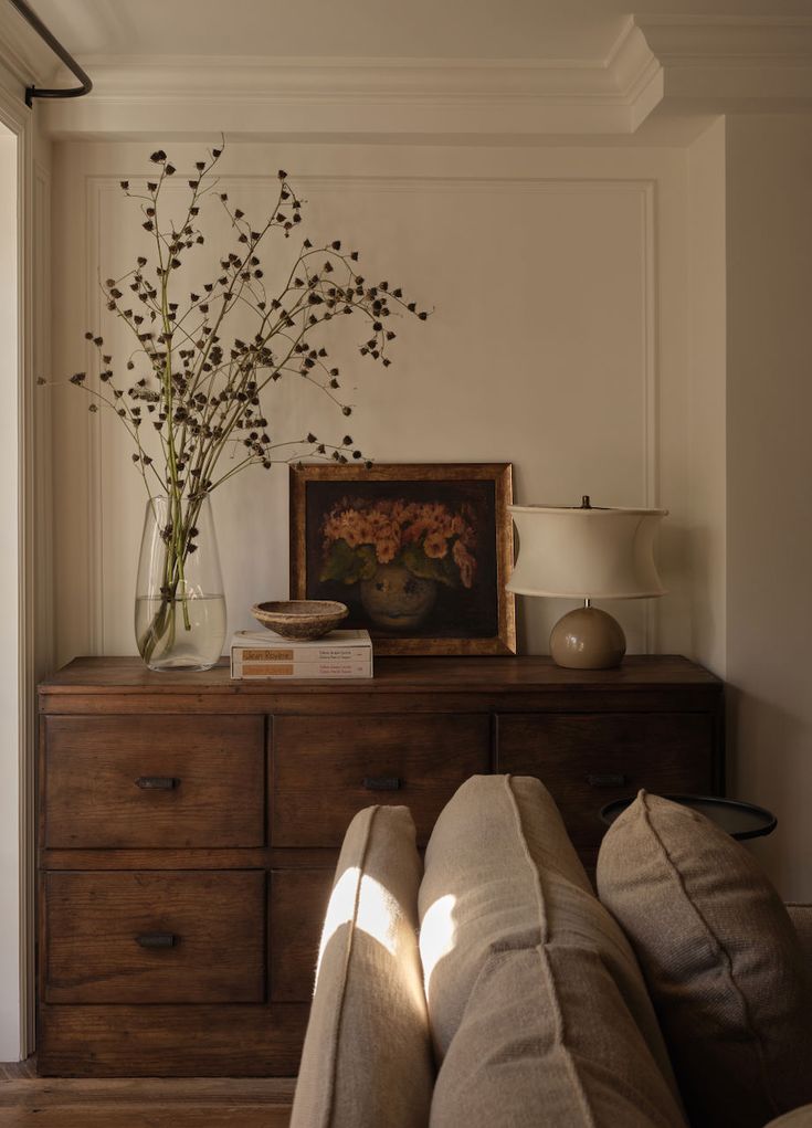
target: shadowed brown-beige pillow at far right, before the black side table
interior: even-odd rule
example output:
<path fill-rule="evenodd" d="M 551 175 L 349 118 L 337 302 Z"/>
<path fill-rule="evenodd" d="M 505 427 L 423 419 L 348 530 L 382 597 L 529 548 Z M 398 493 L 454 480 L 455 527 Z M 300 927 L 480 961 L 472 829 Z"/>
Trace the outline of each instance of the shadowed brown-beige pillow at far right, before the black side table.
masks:
<path fill-rule="evenodd" d="M 603 839 L 598 891 L 637 952 L 691 1125 L 761 1128 L 812 1101 L 804 957 L 740 843 L 641 792 Z"/>

